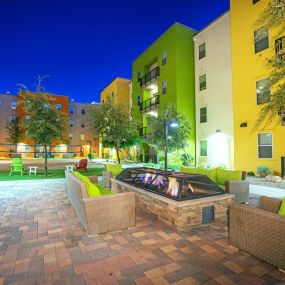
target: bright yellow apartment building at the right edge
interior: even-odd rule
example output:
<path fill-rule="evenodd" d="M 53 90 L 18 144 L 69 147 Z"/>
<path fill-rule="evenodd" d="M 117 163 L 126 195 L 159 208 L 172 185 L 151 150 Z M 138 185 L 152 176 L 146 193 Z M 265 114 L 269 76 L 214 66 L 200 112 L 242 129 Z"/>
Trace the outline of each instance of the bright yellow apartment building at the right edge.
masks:
<path fill-rule="evenodd" d="M 257 166 L 271 167 L 284 175 L 285 124 L 279 118 L 264 129 L 254 125 L 273 86 L 266 58 L 285 54 L 285 31 L 262 32 L 257 26 L 269 0 L 231 0 L 231 45 L 233 75 L 235 167 L 256 172 Z M 283 165 L 283 168 L 282 168 Z"/>

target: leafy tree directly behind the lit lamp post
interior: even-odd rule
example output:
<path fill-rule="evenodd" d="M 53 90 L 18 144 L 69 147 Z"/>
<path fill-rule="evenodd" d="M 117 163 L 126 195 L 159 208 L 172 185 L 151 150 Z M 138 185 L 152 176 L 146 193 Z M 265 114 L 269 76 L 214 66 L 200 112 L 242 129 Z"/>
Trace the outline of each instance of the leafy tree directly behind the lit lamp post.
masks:
<path fill-rule="evenodd" d="M 177 122 L 178 127 L 168 129 L 168 150 L 170 152 L 179 149 L 184 150 L 189 145 L 191 127 L 185 116 L 179 114 L 172 104 L 167 105 L 157 118 L 154 116 L 147 117 L 150 135 L 145 138 L 145 142 L 156 150 L 164 151 L 165 123 L 172 121 Z"/>

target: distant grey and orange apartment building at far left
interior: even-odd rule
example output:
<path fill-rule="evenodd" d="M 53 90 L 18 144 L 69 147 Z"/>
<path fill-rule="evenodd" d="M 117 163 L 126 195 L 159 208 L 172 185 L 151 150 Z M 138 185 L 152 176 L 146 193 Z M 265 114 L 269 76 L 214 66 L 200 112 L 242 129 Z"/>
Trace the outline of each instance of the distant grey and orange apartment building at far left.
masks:
<path fill-rule="evenodd" d="M 11 152 L 18 152 L 24 158 L 42 157 L 43 147 L 37 145 L 29 138 L 23 139 L 16 149 L 16 146 L 7 142 L 5 126 L 9 120 L 16 116 L 25 119 L 26 114 L 21 104 L 22 96 L 0 94 L 0 156 L 8 157 Z M 33 93 L 36 96 L 36 93 Z M 68 118 L 68 125 L 65 129 L 65 140 L 54 141 L 48 147 L 50 157 L 70 158 L 76 156 L 87 156 L 90 152 L 98 154 L 98 139 L 94 138 L 87 130 L 86 113 L 90 103 L 79 103 L 70 101 L 68 96 L 49 94 L 51 102 L 59 112 L 63 112 Z"/>

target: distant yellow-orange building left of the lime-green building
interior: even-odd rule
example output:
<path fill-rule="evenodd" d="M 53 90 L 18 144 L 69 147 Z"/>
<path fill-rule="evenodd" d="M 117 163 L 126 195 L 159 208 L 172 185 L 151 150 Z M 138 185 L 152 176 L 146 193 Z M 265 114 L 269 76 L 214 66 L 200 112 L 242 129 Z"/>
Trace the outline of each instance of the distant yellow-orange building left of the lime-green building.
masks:
<path fill-rule="evenodd" d="M 132 98 L 131 98 L 131 80 L 116 77 L 112 80 L 101 92 L 100 103 L 104 103 L 107 100 L 111 100 L 114 104 L 122 104 L 126 106 L 127 111 L 131 112 Z M 115 149 L 102 146 L 102 142 L 99 144 L 99 156 L 101 158 L 117 159 Z"/>

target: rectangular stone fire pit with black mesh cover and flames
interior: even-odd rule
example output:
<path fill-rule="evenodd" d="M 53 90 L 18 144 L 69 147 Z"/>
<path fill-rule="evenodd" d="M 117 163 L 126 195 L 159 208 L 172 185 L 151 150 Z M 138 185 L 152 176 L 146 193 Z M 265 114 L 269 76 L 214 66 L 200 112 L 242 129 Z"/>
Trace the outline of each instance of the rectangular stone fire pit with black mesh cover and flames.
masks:
<path fill-rule="evenodd" d="M 205 175 L 128 168 L 112 179 L 114 193 L 136 193 L 136 207 L 184 230 L 225 219 L 233 195 Z"/>

